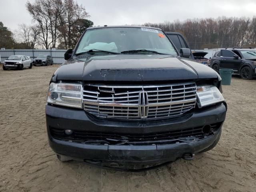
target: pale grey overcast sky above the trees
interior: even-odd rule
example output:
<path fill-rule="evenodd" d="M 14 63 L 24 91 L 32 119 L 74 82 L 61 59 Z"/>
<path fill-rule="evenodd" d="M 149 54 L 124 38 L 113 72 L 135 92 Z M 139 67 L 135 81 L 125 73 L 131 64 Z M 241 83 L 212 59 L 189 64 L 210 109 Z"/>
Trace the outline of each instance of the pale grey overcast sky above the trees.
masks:
<path fill-rule="evenodd" d="M 10 30 L 31 24 L 27 0 L 0 0 L 0 21 Z M 34 0 L 30 0 L 33 2 Z M 218 16 L 256 16 L 256 0 L 77 0 L 98 25 L 143 24 Z"/>

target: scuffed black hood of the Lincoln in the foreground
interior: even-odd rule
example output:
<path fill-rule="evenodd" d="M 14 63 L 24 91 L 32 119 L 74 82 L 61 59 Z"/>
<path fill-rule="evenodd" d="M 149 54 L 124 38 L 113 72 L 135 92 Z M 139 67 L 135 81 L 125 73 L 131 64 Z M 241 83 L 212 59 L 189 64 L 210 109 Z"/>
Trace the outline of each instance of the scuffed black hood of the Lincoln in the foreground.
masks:
<path fill-rule="evenodd" d="M 218 78 L 211 68 L 193 60 L 167 55 L 107 55 L 72 58 L 52 80 L 164 81 Z"/>

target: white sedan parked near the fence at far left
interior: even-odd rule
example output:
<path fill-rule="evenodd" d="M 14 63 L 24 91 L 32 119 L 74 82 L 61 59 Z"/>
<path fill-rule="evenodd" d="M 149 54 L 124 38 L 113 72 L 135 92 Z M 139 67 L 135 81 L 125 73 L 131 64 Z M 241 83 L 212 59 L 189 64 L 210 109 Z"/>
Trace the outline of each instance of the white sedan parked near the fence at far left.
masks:
<path fill-rule="evenodd" d="M 19 69 L 23 70 L 24 67 L 32 68 L 32 61 L 29 56 L 25 55 L 12 55 L 3 62 L 3 70 Z"/>

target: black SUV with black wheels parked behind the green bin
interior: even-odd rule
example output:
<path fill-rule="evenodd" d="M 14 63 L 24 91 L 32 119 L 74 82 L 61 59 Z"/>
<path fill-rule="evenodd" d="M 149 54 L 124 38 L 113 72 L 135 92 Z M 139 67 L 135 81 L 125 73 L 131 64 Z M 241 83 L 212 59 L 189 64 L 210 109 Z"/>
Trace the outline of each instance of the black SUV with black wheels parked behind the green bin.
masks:
<path fill-rule="evenodd" d="M 215 71 L 221 68 L 234 70 L 243 79 L 252 79 L 256 76 L 256 50 L 255 49 L 225 49 L 214 54 L 210 60 L 210 67 Z"/>

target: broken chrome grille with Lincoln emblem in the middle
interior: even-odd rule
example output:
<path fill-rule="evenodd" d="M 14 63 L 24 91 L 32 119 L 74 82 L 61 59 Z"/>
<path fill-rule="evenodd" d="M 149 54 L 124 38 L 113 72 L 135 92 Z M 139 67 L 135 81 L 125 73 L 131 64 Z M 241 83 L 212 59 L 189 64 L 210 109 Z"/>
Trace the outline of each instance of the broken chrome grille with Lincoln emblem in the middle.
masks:
<path fill-rule="evenodd" d="M 98 117 L 157 119 L 180 116 L 195 107 L 196 84 L 111 86 L 85 84 L 84 110 Z"/>

